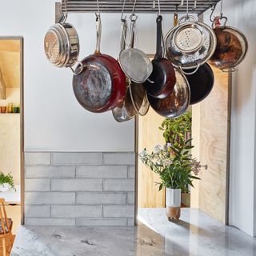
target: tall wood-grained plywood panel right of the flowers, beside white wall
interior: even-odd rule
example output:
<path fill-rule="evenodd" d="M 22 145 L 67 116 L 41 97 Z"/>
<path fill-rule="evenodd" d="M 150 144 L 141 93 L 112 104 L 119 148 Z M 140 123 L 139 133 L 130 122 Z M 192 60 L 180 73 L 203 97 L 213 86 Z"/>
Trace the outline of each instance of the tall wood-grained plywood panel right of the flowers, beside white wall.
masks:
<path fill-rule="evenodd" d="M 226 221 L 228 74 L 214 70 L 214 89 L 200 106 L 200 161 L 208 165 L 199 182 L 199 208 Z"/>

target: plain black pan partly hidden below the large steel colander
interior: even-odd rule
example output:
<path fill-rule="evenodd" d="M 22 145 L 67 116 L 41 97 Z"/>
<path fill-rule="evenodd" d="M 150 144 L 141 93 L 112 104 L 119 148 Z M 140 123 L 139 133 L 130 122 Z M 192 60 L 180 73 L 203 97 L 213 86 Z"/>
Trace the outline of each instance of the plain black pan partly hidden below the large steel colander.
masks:
<path fill-rule="evenodd" d="M 194 74 L 186 75 L 186 78 L 190 84 L 190 105 L 201 102 L 214 87 L 214 72 L 207 63 L 200 66 Z"/>

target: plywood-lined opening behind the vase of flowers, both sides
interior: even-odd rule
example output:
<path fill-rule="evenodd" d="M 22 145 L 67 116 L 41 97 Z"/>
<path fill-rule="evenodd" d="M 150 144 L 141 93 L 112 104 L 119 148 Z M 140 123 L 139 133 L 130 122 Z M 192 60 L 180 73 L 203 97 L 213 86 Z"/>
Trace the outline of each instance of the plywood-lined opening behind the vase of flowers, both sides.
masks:
<path fill-rule="evenodd" d="M 199 182 L 191 190 L 191 206 L 205 211 L 218 221 L 227 223 L 230 162 L 230 75 L 214 70 L 214 89 L 201 103 L 192 107 L 192 138 L 194 157 L 208 170 L 202 171 Z M 148 152 L 156 144 L 164 144 L 162 131 L 158 129 L 164 118 L 150 109 L 137 122 L 136 151 Z M 158 175 L 142 162 L 137 164 L 138 208 L 165 207 L 165 192 L 158 191 Z"/>

